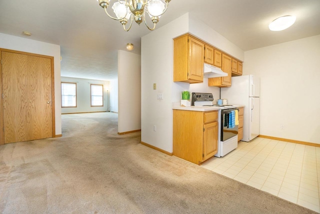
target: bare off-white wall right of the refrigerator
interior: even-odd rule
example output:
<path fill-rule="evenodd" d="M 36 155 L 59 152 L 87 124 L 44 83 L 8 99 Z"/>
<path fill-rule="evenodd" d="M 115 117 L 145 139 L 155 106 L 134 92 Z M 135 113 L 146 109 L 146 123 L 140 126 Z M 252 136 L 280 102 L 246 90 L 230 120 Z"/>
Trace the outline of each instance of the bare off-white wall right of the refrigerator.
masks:
<path fill-rule="evenodd" d="M 243 75 L 260 76 L 261 135 L 320 144 L 319 59 L 320 35 L 244 53 Z"/>

